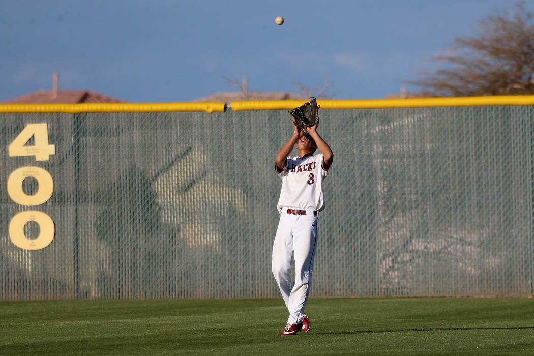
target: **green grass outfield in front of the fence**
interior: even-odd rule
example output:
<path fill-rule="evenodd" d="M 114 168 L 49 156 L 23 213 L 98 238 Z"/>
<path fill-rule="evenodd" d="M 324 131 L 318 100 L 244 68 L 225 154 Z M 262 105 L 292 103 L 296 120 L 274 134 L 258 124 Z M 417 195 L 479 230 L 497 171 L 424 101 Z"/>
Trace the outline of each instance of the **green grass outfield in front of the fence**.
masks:
<path fill-rule="evenodd" d="M 534 354 L 531 298 L 0 302 L 0 354 Z"/>

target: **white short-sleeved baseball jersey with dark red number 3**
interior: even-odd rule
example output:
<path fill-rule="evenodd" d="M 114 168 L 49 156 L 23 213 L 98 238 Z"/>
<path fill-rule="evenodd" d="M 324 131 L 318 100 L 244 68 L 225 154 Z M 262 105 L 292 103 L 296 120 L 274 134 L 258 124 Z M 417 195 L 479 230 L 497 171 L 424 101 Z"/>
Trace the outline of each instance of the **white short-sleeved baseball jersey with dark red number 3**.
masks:
<path fill-rule="evenodd" d="M 287 157 L 284 170 L 278 173 L 277 169 L 282 180 L 278 211 L 281 208 L 317 211 L 325 208 L 323 179 L 328 171 L 323 168 L 323 162 L 323 154 Z"/>

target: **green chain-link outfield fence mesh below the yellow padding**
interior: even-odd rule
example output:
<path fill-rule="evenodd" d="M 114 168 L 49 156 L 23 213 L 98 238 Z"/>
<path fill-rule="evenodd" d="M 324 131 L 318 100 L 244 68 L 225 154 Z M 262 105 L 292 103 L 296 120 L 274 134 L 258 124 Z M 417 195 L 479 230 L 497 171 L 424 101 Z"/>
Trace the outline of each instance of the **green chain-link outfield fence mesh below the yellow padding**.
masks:
<path fill-rule="evenodd" d="M 321 110 L 332 147 L 313 297 L 534 294 L 531 106 Z M 287 110 L 0 114 L 0 298 L 278 297 L 270 272 Z M 48 123 L 49 161 L 10 157 Z M 28 145 L 32 145 L 32 140 Z M 53 177 L 49 201 L 13 202 L 11 172 Z M 25 179 L 27 195 L 39 188 Z M 21 211 L 53 242 L 13 244 Z M 40 226 L 25 226 L 35 239 Z"/>

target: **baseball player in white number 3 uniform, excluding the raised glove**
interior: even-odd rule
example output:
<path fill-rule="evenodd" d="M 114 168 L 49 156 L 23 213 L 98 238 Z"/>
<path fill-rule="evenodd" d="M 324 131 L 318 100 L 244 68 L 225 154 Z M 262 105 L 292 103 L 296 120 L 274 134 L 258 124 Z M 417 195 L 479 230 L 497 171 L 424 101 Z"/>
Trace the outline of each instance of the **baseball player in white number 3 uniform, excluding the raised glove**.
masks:
<path fill-rule="evenodd" d="M 304 307 L 310 292 L 311 271 L 317 246 L 318 212 L 325 207 L 323 180 L 332 165 L 333 153 L 317 133 L 317 124 L 304 132 L 293 119 L 294 133 L 276 156 L 276 172 L 282 180 L 278 211 L 280 220 L 272 248 L 272 273 L 289 311 L 280 335 L 310 329 Z M 296 157 L 289 157 L 293 147 Z M 319 148 L 320 154 L 313 155 Z M 292 257 L 295 278 L 289 275 Z"/>

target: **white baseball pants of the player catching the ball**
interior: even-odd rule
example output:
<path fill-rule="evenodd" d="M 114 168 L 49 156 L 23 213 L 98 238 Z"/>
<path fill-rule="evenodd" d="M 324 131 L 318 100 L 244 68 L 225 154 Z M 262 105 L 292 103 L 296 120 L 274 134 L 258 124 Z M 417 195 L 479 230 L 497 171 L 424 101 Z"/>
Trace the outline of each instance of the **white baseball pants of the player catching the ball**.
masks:
<path fill-rule="evenodd" d="M 317 246 L 317 216 L 292 215 L 282 209 L 272 248 L 272 273 L 289 311 L 289 324 L 302 321 Z M 295 282 L 289 274 L 295 260 Z"/>

